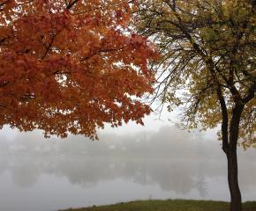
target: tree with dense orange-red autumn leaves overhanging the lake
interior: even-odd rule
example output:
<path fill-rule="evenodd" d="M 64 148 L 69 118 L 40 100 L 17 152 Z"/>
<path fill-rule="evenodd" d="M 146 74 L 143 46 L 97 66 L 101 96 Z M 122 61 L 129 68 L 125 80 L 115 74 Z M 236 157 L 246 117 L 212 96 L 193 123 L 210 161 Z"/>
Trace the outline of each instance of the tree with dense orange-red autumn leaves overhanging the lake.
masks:
<path fill-rule="evenodd" d="M 132 33 L 126 0 L 1 0 L 0 127 L 39 128 L 45 136 L 96 136 L 150 107 L 147 62 L 154 45 Z"/>

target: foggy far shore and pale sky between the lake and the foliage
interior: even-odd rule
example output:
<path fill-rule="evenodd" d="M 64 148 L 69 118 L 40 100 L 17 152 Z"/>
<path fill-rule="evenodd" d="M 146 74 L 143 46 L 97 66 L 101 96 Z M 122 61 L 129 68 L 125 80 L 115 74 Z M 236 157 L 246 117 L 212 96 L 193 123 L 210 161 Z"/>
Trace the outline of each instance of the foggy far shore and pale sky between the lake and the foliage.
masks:
<path fill-rule="evenodd" d="M 122 127 L 108 124 L 98 129 L 99 140 L 90 140 L 83 135 L 68 135 L 61 139 L 56 135 L 45 139 L 43 131 L 19 132 L 4 126 L 0 130 L 0 153 L 2 155 L 37 156 L 156 156 L 156 157 L 205 157 L 225 158 L 222 142 L 217 141 L 217 131 L 200 132 L 174 127 L 176 113 L 163 109 L 161 116 L 152 113 L 144 118 L 144 126 L 129 121 Z M 237 148 L 239 157 L 255 158 L 255 149 L 244 151 Z"/>

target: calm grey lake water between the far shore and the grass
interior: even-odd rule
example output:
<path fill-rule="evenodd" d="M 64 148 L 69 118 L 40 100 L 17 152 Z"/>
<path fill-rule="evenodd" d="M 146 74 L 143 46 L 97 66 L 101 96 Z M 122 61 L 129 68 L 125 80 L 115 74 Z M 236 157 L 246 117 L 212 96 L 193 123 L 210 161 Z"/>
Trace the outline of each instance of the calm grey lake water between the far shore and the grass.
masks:
<path fill-rule="evenodd" d="M 243 201 L 256 161 L 239 161 Z M 230 200 L 225 159 L 1 156 L 0 210 L 48 211 L 129 200 Z"/>

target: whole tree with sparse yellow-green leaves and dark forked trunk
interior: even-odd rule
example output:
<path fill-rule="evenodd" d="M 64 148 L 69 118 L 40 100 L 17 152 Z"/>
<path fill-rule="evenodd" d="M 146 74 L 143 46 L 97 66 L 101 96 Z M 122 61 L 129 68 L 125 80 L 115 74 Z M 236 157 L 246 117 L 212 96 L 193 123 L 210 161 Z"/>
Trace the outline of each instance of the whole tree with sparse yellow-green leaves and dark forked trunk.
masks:
<path fill-rule="evenodd" d="M 230 210 L 241 211 L 237 143 L 256 147 L 256 1 L 147 0 L 137 14 L 161 55 L 153 100 L 181 107 L 189 128 L 222 124 Z"/>

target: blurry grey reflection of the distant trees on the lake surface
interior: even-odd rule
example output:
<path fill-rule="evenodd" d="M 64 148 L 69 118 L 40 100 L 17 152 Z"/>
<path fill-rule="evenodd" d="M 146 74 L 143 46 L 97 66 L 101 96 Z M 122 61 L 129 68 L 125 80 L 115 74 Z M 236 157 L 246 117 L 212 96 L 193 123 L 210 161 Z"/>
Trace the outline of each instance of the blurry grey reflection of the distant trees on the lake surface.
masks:
<path fill-rule="evenodd" d="M 245 162 L 246 165 L 240 164 L 239 174 L 242 178 L 240 184 L 243 193 L 250 192 L 252 186 L 256 185 L 255 163 Z M 67 178 L 70 186 L 83 188 L 93 188 L 100 183 L 115 182 L 122 178 L 124 182 L 140 186 L 160 186 L 163 192 L 175 193 L 177 198 L 180 196 L 185 198 L 193 191 L 199 193 L 198 199 L 207 197 L 211 185 L 208 184 L 209 178 L 226 176 L 224 159 L 3 156 L 0 166 L 0 178 L 4 171 L 10 171 L 12 182 L 19 189 L 34 186 L 41 175 L 53 176 L 56 179 Z M 120 190 L 122 191 L 122 187 Z M 147 198 L 148 195 L 154 199 L 159 198 L 155 193 L 145 193 L 145 195 Z M 172 198 L 176 198 L 174 194 L 171 195 Z"/>

